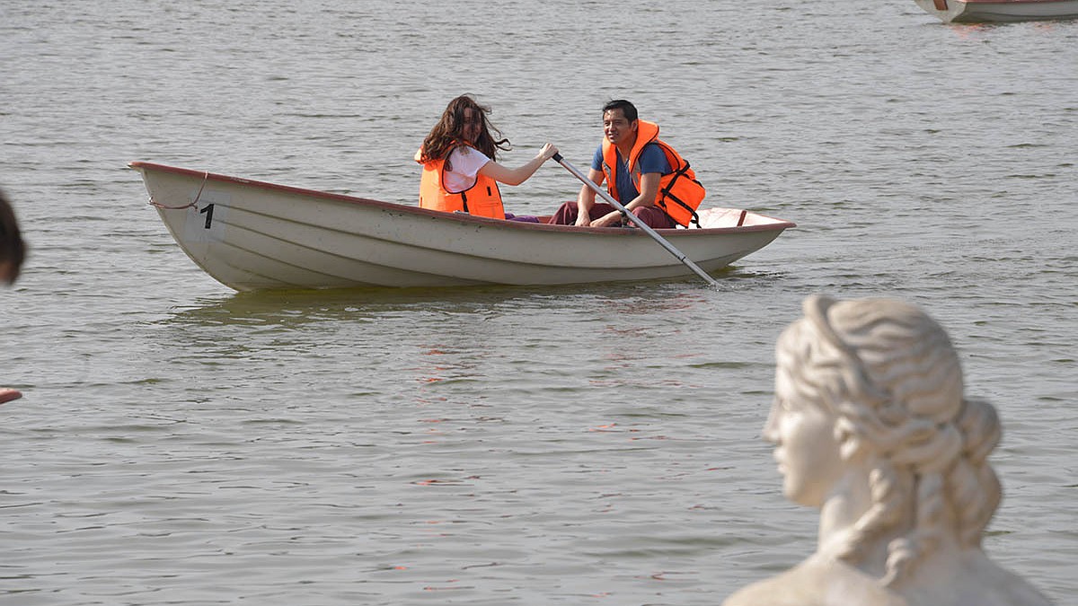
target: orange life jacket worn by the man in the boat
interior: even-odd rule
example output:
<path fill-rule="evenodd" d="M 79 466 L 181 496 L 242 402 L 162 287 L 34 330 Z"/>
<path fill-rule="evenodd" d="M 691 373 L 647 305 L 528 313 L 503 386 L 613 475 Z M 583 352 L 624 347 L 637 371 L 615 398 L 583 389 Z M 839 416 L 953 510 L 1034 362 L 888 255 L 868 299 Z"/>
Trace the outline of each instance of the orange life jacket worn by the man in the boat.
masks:
<path fill-rule="evenodd" d="M 640 167 L 636 161 L 640 157 L 644 146 L 657 143 L 666 154 L 666 162 L 669 163 L 673 173 L 663 175 L 660 179 L 655 206 L 669 215 L 674 222 L 688 226 L 691 221 L 699 228 L 700 218 L 696 216 L 696 209 L 707 194 L 704 185 L 696 180 L 696 174 L 689 167 L 689 163 L 674 148 L 659 139 L 658 124 L 642 120 L 637 120 L 636 123 L 636 142 L 628 152 L 628 174 L 633 178 L 636 191 L 640 191 Z M 614 199 L 621 199 L 618 197 L 617 166 L 618 148 L 603 137 L 603 173 L 606 174 L 607 190 Z"/>

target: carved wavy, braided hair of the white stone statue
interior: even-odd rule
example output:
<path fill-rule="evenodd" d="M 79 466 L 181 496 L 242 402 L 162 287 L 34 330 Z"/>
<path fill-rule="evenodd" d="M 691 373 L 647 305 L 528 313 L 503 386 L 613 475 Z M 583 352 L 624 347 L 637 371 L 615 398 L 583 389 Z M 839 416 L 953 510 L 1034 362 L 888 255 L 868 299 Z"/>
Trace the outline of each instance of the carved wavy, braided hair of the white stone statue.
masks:
<path fill-rule="evenodd" d="M 962 368 L 943 329 L 914 305 L 811 297 L 776 357 L 798 396 L 835 416 L 845 458 L 865 456 L 872 505 L 839 557 L 859 562 L 871 539 L 887 547 L 882 583 L 900 584 L 953 519 L 963 547 L 979 547 L 999 504 L 986 462 L 999 441 L 991 404 L 963 396 Z M 912 511 L 908 504 L 912 504 Z"/>

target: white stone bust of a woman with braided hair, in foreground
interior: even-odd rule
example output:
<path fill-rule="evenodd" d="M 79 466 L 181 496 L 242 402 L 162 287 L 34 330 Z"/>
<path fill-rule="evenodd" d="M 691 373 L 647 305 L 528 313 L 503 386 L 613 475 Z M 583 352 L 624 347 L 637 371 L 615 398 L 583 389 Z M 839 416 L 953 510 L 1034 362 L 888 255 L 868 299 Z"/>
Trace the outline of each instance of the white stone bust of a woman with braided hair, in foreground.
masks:
<path fill-rule="evenodd" d="M 1001 491 L 995 409 L 914 305 L 810 297 L 775 347 L 763 437 L 787 498 L 819 508 L 816 552 L 725 604 L 1023 605 L 1048 601 L 981 536 Z"/>

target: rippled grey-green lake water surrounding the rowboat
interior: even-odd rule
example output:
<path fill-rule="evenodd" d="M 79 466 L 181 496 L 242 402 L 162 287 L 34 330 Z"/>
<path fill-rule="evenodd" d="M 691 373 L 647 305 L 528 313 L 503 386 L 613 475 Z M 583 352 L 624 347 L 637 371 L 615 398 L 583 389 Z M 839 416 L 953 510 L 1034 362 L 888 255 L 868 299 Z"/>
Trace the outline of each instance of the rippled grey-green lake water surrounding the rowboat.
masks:
<path fill-rule="evenodd" d="M 1078 22 L 912 0 L 0 6 L 0 603 L 717 604 L 814 549 L 760 429 L 814 292 L 925 307 L 1004 422 L 985 549 L 1076 604 Z M 523 164 L 632 99 L 709 202 L 699 280 L 238 294 L 128 162 L 414 204 L 473 93 Z M 549 164 L 507 188 L 549 212 Z"/>

